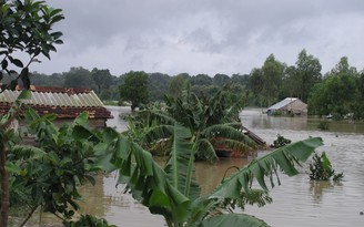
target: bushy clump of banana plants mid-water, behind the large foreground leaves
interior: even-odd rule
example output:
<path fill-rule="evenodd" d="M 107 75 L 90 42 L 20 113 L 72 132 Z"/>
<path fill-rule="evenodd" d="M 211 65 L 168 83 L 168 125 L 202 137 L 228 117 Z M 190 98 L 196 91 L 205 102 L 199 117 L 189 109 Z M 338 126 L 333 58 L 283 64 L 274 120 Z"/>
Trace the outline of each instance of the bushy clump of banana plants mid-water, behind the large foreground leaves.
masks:
<path fill-rule="evenodd" d="M 257 147 L 242 131 L 239 113 L 244 99 L 239 93 L 231 93 L 226 86 L 212 97 L 199 97 L 191 92 L 189 82 L 184 85 L 181 96 L 166 95 L 163 105 L 155 103 L 129 116 L 129 130 L 124 134 L 153 154 L 163 155 L 168 154 L 163 146 L 172 136 L 168 128 L 179 123 L 193 135 L 195 157 L 210 162 L 218 159 L 216 144 L 241 154 Z"/>

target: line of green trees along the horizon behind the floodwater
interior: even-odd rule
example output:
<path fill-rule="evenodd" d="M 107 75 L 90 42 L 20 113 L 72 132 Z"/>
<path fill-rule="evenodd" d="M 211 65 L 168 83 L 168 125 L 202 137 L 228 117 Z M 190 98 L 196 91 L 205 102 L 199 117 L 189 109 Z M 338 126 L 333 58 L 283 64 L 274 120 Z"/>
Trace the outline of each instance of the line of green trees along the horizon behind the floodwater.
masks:
<path fill-rule="evenodd" d="M 130 76 L 139 79 L 125 81 Z M 294 65 L 287 65 L 270 54 L 262 66 L 253 68 L 249 74 L 169 75 L 131 71 L 117 76 L 108 69 L 89 71 L 79 66 L 51 75 L 33 72 L 30 80 L 33 85 L 92 89 L 103 101 L 133 103 L 131 99 L 140 95 L 135 107 L 142 103 L 163 101 L 165 94 L 179 96 L 185 81 L 191 83 L 192 92 L 206 97 L 229 85 L 230 91 L 246 97 L 245 105 L 250 106 L 267 107 L 291 96 L 307 103 L 309 114 L 332 114 L 336 118 L 364 117 L 364 71 L 351 66 L 347 58 L 343 56 L 331 71 L 322 74 L 320 60 L 305 49 L 297 54 Z"/>

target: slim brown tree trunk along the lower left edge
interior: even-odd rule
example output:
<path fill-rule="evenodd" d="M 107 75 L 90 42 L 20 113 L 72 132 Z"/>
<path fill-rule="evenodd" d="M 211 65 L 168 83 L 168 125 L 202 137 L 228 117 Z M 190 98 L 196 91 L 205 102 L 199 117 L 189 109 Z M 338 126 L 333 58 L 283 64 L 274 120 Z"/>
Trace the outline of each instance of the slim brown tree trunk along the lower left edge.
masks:
<path fill-rule="evenodd" d="M 6 171 L 7 151 L 2 138 L 0 138 L 0 180 L 1 180 L 1 207 L 0 227 L 8 226 L 9 217 L 9 173 Z"/>

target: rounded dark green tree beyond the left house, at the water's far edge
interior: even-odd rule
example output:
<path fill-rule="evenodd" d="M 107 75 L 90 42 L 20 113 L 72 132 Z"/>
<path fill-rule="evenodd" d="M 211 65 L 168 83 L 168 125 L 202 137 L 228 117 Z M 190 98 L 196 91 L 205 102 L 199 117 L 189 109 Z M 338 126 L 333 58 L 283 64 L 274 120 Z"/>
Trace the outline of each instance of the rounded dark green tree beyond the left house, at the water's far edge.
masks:
<path fill-rule="evenodd" d="M 123 84 L 119 86 L 120 97 L 131 103 L 131 111 L 134 112 L 140 104 L 149 101 L 148 80 L 149 76 L 143 71 L 130 71 L 123 75 Z"/>

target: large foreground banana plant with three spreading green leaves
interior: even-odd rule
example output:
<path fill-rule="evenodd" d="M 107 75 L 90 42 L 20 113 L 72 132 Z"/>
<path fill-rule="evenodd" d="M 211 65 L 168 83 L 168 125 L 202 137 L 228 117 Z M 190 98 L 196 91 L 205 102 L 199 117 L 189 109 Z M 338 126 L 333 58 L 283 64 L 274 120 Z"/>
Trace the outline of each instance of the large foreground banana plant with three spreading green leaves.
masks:
<path fill-rule="evenodd" d="M 296 165 L 322 145 L 322 140 L 315 137 L 277 148 L 222 179 L 210 195 L 201 196 L 194 178 L 196 144 L 193 135 L 180 124 L 173 125 L 171 134 L 171 152 L 164 168 L 148 151 L 111 128 L 103 132 L 104 143 L 95 147 L 99 151 L 97 162 L 104 169 L 117 169 L 118 183 L 124 184 L 125 190 L 152 214 L 162 215 L 169 227 L 269 226 L 261 219 L 233 210 L 247 204 L 263 206 L 271 203 L 265 178 L 270 178 L 273 187 L 275 182 L 281 184 L 280 171 L 289 176 L 296 175 Z M 257 180 L 261 188 L 252 188 L 253 180 Z"/>

